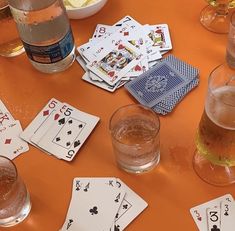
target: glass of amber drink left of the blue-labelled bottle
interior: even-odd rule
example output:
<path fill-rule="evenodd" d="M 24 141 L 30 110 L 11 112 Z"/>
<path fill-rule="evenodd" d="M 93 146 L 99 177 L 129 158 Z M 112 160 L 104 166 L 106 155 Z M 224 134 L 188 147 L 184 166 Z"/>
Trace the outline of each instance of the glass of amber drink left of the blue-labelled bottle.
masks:
<path fill-rule="evenodd" d="M 6 0 L 0 0 L 0 55 L 12 57 L 24 52 L 16 23 Z"/>

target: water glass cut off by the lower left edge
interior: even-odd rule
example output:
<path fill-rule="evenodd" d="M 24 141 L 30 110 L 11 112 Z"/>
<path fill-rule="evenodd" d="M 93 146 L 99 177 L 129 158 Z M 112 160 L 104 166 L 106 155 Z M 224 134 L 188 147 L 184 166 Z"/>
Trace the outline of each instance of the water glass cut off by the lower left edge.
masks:
<path fill-rule="evenodd" d="M 27 217 L 30 209 L 29 193 L 15 164 L 0 156 L 0 227 L 20 223 Z"/>

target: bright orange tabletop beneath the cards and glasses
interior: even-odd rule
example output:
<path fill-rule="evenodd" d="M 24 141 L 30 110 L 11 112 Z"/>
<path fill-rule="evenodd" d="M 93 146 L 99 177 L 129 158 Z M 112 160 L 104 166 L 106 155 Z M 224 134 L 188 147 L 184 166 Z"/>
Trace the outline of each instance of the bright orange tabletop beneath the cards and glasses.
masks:
<path fill-rule="evenodd" d="M 35 70 L 25 54 L 0 58 L 0 99 L 23 128 L 52 97 L 100 117 L 71 163 L 33 146 L 14 160 L 30 191 L 32 210 L 21 224 L 0 230 L 59 230 L 69 206 L 74 177 L 118 177 L 148 202 L 148 208 L 127 231 L 196 231 L 189 213 L 191 207 L 226 193 L 235 196 L 234 185 L 209 185 L 192 168 L 194 137 L 204 107 L 208 75 L 225 61 L 227 41 L 227 35 L 209 32 L 201 26 L 199 14 L 204 6 L 203 0 L 109 0 L 96 15 L 71 20 L 77 46 L 88 41 L 98 23 L 112 25 L 125 15 L 141 24 L 167 23 L 173 43 L 169 53 L 200 70 L 199 86 L 172 113 L 160 116 L 161 161 L 154 170 L 142 175 L 119 169 L 112 152 L 109 118 L 120 106 L 136 103 L 125 88 L 109 93 L 88 84 L 81 79 L 84 71 L 77 62 L 62 73 L 47 75 Z"/>

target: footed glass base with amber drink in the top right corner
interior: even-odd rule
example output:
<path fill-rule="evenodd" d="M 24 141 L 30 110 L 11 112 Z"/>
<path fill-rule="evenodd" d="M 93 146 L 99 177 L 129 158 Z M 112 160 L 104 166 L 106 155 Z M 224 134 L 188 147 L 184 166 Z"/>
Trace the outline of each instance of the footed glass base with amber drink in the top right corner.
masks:
<path fill-rule="evenodd" d="M 206 0 L 209 4 L 200 14 L 201 24 L 208 30 L 226 34 L 229 30 L 231 11 L 235 0 Z"/>

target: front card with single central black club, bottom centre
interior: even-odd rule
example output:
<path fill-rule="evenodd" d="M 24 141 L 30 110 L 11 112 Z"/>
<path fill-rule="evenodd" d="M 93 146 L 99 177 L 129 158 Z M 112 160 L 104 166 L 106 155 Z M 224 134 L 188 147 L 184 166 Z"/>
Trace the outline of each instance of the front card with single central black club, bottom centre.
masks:
<path fill-rule="evenodd" d="M 72 199 L 62 230 L 104 231 L 112 226 L 125 196 L 113 178 L 75 178 Z"/>

